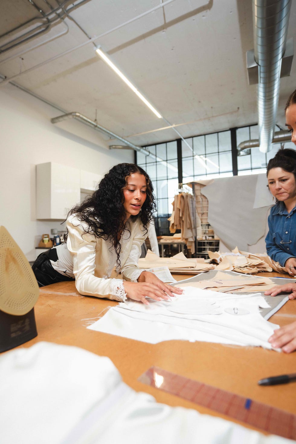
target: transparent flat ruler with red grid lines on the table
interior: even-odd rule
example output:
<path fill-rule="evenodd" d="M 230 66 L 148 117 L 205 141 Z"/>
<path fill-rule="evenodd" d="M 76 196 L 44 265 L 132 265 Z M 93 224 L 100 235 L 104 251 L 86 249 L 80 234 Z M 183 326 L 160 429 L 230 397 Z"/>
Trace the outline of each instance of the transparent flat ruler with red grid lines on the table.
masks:
<path fill-rule="evenodd" d="M 235 393 L 150 367 L 139 381 L 230 416 L 265 432 L 296 440 L 296 415 Z"/>

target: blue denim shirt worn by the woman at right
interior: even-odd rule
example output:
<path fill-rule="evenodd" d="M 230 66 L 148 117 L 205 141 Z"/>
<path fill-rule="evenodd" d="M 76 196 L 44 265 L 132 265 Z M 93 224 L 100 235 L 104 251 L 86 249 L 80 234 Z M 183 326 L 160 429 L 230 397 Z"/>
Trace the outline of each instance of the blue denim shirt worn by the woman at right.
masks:
<path fill-rule="evenodd" d="M 296 258 L 296 206 L 288 214 L 284 202 L 277 202 L 268 216 L 266 251 L 284 267 L 289 258 Z M 282 241 L 282 243 L 280 243 Z"/>

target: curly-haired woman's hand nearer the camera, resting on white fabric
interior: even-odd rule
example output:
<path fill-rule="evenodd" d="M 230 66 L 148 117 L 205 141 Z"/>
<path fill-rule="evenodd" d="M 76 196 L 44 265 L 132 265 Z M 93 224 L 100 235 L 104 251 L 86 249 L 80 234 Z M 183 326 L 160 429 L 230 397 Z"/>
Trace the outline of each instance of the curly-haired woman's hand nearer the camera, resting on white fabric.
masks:
<path fill-rule="evenodd" d="M 170 300 L 170 297 L 155 284 L 149 282 L 130 282 L 123 281 L 126 296 L 134 301 L 141 301 L 145 305 L 149 305 L 146 296 L 155 301 Z"/>

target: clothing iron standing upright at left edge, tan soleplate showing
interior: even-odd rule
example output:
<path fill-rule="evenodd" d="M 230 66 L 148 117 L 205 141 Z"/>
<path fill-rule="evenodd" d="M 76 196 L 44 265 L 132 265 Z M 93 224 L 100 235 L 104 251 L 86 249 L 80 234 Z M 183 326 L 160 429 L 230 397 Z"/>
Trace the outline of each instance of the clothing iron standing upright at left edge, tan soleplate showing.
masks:
<path fill-rule="evenodd" d="M 39 287 L 22 250 L 0 226 L 0 352 L 37 336 L 34 305 Z"/>

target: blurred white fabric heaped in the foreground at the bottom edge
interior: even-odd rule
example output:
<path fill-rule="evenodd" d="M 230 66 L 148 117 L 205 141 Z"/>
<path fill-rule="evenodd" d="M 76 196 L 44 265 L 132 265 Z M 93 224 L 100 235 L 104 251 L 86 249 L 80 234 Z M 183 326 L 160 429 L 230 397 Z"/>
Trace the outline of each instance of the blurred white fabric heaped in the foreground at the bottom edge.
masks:
<path fill-rule="evenodd" d="M 195 410 L 158 404 L 107 357 L 39 342 L 0 357 L 1 444 L 288 444 Z"/>

